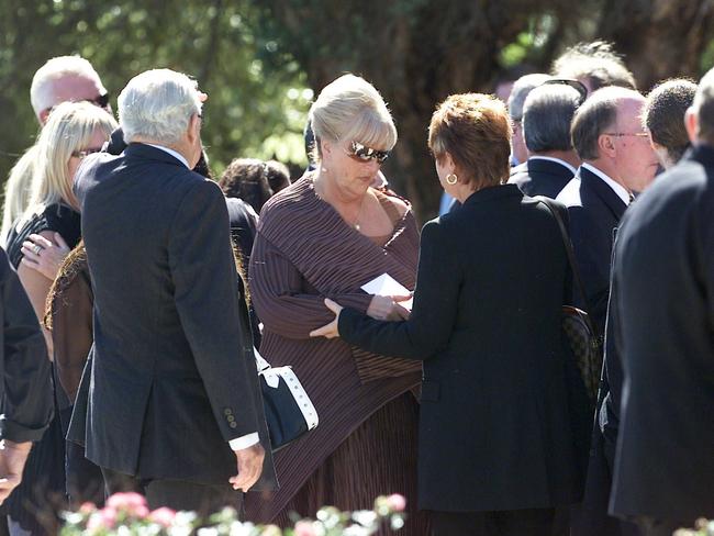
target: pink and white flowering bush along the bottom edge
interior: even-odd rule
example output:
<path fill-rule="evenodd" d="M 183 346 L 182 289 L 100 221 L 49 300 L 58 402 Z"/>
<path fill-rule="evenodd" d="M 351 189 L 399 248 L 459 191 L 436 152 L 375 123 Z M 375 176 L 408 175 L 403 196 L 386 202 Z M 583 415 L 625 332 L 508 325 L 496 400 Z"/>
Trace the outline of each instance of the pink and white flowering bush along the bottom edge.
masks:
<path fill-rule="evenodd" d="M 149 511 L 138 493 L 115 493 L 103 509 L 85 503 L 77 512 L 65 512 L 60 536 L 368 536 L 380 527 L 399 531 L 404 525 L 406 500 L 402 495 L 379 496 L 372 510 L 341 512 L 325 506 L 315 520 L 300 520 L 292 528 L 239 522 L 235 510 L 224 509 L 208 521 L 194 512 L 171 509 Z"/>

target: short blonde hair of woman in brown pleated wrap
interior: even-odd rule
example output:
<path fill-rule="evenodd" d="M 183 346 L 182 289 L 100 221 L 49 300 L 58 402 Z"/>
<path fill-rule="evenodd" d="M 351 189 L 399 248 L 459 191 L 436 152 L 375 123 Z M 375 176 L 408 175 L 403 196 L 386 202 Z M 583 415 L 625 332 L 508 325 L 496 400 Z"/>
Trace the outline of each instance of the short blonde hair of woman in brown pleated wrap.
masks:
<path fill-rule="evenodd" d="M 315 159 L 320 141 L 349 139 L 382 150 L 397 144 L 397 127 L 379 91 L 364 78 L 343 75 L 328 83 L 310 108 L 315 134 Z"/>

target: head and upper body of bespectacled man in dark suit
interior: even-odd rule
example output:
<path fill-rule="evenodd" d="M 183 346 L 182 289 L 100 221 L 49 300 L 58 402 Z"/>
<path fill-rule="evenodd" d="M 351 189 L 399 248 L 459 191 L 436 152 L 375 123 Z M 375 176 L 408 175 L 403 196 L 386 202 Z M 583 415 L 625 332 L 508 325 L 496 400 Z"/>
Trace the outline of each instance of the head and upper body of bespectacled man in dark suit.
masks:
<path fill-rule="evenodd" d="M 610 87 L 592 94 L 576 113 L 572 143 L 582 160 L 576 177 L 556 198 L 568 208 L 570 235 L 589 313 L 600 334 L 610 293 L 613 230 L 629 204 L 657 171 L 657 158 L 643 131 L 645 98 Z M 584 308 L 580 297 L 576 303 Z"/>

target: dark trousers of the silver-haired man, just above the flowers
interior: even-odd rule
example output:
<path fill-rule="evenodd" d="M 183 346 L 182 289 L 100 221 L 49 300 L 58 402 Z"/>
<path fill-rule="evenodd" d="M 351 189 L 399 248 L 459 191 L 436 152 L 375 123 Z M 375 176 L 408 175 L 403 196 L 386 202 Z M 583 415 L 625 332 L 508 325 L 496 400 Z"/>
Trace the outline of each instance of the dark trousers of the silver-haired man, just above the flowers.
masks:
<path fill-rule="evenodd" d="M 155 479 L 143 480 L 102 467 L 107 496 L 126 491 L 135 491 L 146 496 L 152 510 L 167 506 L 172 510 L 192 510 L 200 517 L 231 506 L 243 517 L 243 492 L 225 484 L 202 484 L 186 480 Z"/>

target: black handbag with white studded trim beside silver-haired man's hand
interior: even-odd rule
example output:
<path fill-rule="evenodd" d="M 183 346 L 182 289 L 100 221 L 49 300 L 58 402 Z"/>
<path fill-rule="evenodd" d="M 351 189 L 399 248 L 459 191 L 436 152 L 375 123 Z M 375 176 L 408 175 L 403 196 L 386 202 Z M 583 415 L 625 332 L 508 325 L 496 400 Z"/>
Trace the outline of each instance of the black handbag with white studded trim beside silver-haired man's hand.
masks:
<path fill-rule="evenodd" d="M 255 358 L 268 435 L 275 453 L 315 428 L 317 411 L 292 367 L 272 368 L 257 349 Z"/>

